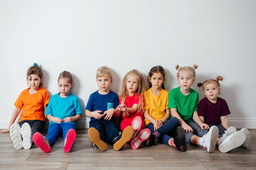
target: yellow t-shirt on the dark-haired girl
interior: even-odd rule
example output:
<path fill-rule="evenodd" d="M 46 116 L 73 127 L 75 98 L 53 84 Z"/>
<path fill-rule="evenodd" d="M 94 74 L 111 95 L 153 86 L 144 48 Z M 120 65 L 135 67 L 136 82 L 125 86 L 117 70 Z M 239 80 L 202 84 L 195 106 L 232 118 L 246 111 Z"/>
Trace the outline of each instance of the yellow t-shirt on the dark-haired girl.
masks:
<path fill-rule="evenodd" d="M 148 110 L 148 114 L 155 120 L 160 120 L 165 116 L 165 110 L 168 109 L 168 96 L 169 92 L 161 89 L 160 95 L 155 96 L 151 88 L 145 94 L 144 109 Z M 145 118 L 145 124 L 148 125 L 149 120 Z"/>

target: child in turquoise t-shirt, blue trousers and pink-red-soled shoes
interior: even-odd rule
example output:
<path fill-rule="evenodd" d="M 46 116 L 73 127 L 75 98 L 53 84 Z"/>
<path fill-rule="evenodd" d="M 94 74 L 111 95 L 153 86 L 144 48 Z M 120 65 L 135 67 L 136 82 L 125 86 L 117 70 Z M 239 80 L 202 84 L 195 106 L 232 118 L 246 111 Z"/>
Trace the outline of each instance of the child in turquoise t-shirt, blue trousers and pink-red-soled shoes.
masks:
<path fill-rule="evenodd" d="M 60 132 L 63 132 L 64 152 L 70 152 L 74 140 L 76 139 L 75 121 L 81 118 L 82 108 L 79 99 L 70 93 L 73 86 L 72 75 L 69 72 L 62 72 L 58 79 L 60 93 L 50 98 L 48 108 L 45 111 L 50 125 L 48 135 L 44 137 L 39 132 L 33 135 L 33 142 L 40 147 L 43 152 L 50 152 L 51 148 Z"/>

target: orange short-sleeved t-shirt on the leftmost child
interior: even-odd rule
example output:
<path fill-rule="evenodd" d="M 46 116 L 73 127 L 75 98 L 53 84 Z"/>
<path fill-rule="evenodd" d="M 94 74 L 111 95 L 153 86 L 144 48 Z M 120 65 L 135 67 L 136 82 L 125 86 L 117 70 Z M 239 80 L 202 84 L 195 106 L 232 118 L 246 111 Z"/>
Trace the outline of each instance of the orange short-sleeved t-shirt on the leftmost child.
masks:
<path fill-rule="evenodd" d="M 25 89 L 18 96 L 17 101 L 14 103 L 16 108 L 22 109 L 21 121 L 23 120 L 43 120 L 45 115 L 43 113 L 43 106 L 49 103 L 49 96 L 47 90 L 39 88 L 35 94 L 28 92 L 30 88 Z"/>

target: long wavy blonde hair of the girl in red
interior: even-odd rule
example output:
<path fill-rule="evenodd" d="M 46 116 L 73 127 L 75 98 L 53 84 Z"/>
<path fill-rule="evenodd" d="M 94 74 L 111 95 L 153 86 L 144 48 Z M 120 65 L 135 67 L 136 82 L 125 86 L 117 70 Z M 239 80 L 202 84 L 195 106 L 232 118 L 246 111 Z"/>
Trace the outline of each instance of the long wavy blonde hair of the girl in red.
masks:
<path fill-rule="evenodd" d="M 121 97 L 122 98 L 122 103 L 126 101 L 126 98 L 128 96 L 128 90 L 126 88 L 126 81 L 129 77 L 130 74 L 133 74 L 138 77 L 138 88 L 136 90 L 136 94 L 140 94 L 140 102 L 139 102 L 139 108 L 138 111 L 141 111 L 143 109 L 144 105 L 144 96 L 145 96 L 145 80 L 143 78 L 143 75 L 140 74 L 140 72 L 137 69 L 133 69 L 130 72 L 126 74 L 125 77 L 123 77 L 122 81 L 122 88 L 121 88 Z"/>

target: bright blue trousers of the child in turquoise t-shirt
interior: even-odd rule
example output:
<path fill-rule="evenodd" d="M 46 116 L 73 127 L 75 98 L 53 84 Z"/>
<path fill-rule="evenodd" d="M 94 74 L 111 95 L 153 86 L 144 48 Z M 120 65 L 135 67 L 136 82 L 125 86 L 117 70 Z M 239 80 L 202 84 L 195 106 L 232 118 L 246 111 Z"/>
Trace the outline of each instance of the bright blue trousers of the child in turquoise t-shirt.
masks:
<path fill-rule="evenodd" d="M 70 129 L 76 130 L 76 125 L 74 125 L 74 123 L 51 123 L 48 128 L 48 135 L 46 136 L 50 143 L 50 146 L 55 143 L 61 131 L 63 132 L 63 139 L 65 140 L 67 131 L 69 131 Z"/>

